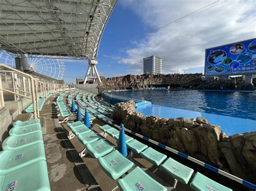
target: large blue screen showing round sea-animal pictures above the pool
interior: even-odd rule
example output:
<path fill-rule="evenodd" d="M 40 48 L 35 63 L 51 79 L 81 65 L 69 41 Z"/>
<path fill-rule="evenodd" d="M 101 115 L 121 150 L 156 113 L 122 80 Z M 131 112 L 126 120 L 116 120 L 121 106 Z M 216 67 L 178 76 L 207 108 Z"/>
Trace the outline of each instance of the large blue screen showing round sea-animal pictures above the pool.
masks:
<path fill-rule="evenodd" d="M 256 74 L 256 39 L 205 50 L 205 75 Z"/>

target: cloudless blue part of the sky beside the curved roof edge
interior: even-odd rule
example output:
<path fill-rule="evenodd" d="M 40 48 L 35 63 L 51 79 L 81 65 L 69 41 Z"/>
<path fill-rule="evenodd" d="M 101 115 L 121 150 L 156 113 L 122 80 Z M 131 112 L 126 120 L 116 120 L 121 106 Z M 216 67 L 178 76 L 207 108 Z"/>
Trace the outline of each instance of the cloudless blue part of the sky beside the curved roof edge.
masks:
<path fill-rule="evenodd" d="M 119 2 L 105 27 L 97 56 L 99 75 L 107 77 L 126 75 L 129 74 L 129 70 L 133 69 L 132 66 L 118 63 L 118 60 L 126 55 L 125 49 L 131 47 L 131 44 L 112 50 L 141 36 L 147 30 L 151 30 L 150 27 L 143 25 L 136 13 Z M 87 63 L 87 61 L 76 60 L 65 62 L 65 82 L 75 82 L 76 77 L 84 77 L 88 67 Z"/>

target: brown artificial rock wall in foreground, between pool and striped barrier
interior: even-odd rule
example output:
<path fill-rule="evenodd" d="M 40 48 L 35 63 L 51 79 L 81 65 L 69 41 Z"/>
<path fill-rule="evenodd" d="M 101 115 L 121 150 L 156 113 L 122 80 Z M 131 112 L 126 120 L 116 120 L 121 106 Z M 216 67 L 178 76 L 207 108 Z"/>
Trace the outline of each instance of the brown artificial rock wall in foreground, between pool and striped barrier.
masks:
<path fill-rule="evenodd" d="M 207 119 L 146 117 L 134 112 L 134 102 L 117 103 L 113 119 L 177 151 L 256 183 L 256 131 L 226 136 Z"/>

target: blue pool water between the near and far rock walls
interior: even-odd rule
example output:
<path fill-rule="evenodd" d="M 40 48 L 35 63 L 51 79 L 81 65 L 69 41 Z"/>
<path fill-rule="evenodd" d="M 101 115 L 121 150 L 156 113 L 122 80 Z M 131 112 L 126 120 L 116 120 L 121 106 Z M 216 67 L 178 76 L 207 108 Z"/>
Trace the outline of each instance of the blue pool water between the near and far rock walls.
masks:
<path fill-rule="evenodd" d="M 138 107 L 147 116 L 196 118 L 220 125 L 227 135 L 256 130 L 256 93 L 199 90 L 112 91 L 113 95 L 150 101 Z"/>

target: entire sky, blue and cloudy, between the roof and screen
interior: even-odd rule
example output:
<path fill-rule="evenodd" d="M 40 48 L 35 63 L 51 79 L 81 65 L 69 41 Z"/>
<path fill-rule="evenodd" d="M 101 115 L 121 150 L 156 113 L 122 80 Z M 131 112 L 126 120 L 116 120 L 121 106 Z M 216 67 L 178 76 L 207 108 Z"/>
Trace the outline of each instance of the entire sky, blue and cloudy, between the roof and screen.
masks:
<path fill-rule="evenodd" d="M 163 30 L 119 47 L 211 3 Z M 98 72 L 107 77 L 139 74 L 143 58 L 154 54 L 163 58 L 165 74 L 203 73 L 206 48 L 256 37 L 255 4 L 254 0 L 119 0 L 100 41 Z M 84 77 L 87 61 L 64 62 L 66 83 Z"/>

